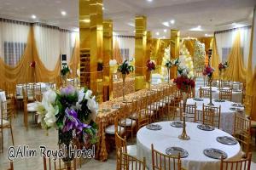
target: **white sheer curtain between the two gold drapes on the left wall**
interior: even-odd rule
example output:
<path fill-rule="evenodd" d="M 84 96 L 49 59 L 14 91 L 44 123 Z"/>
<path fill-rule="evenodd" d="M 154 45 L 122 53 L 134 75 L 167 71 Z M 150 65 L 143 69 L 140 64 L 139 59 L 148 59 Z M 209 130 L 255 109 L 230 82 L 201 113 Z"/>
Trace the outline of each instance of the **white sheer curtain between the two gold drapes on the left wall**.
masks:
<path fill-rule="evenodd" d="M 38 55 L 47 69 L 55 69 L 60 54 L 67 54 L 69 63 L 75 43 L 76 32 L 61 30 L 54 26 L 34 26 Z"/>

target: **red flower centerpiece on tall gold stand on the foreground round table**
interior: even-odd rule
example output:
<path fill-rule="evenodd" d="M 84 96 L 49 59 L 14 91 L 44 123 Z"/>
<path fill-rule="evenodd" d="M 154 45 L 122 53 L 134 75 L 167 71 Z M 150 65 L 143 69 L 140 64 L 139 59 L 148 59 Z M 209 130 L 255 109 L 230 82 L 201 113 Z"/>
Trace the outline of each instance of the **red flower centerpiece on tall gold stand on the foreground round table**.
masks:
<path fill-rule="evenodd" d="M 186 103 L 188 99 L 188 94 L 195 88 L 195 81 L 193 76 L 189 74 L 189 68 L 187 67 L 178 67 L 177 68 L 177 78 L 174 79 L 174 83 L 176 83 L 177 88 L 180 90 L 182 97 L 183 97 L 183 133 L 178 136 L 179 139 L 189 140 L 190 137 L 186 133 L 186 126 L 185 126 L 185 110 L 186 110 Z"/>

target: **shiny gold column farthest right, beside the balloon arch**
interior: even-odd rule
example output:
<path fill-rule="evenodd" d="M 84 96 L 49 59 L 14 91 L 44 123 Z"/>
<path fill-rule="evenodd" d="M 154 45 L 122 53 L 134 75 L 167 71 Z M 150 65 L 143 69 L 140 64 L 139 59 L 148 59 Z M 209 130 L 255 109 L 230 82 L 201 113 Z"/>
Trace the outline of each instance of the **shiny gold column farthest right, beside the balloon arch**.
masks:
<path fill-rule="evenodd" d="M 180 32 L 178 30 L 171 30 L 171 59 L 177 59 L 179 57 L 179 40 Z M 172 67 L 170 78 L 177 77 L 177 68 Z"/>

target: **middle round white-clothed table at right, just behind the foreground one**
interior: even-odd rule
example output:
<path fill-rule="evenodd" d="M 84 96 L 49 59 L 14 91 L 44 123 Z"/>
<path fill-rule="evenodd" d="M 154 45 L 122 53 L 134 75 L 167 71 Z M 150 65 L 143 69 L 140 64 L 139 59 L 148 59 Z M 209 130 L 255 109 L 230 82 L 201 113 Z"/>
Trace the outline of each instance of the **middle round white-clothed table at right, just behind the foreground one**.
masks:
<path fill-rule="evenodd" d="M 202 111 L 202 105 L 207 105 L 208 103 L 210 103 L 210 99 L 203 98 L 203 101 L 195 101 L 194 99 L 187 100 L 188 105 L 192 105 L 195 103 L 196 111 Z M 232 134 L 234 127 L 234 116 L 236 114 L 236 111 L 231 111 L 230 108 L 234 107 L 232 106 L 234 102 L 230 102 L 227 100 L 225 100 L 224 102 L 215 102 L 214 99 L 212 99 L 212 104 L 214 105 L 214 107 L 218 107 L 220 105 L 220 128 L 225 132 Z M 241 111 L 237 113 L 241 114 L 240 116 L 244 116 L 244 113 Z"/>

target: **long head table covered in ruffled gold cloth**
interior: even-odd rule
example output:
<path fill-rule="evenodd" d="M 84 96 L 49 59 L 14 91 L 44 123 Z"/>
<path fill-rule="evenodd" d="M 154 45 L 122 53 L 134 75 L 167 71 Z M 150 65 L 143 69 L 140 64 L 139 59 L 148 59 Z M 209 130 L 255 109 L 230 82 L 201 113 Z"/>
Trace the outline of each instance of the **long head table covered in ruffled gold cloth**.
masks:
<path fill-rule="evenodd" d="M 154 86 L 154 89 L 163 89 L 164 87 L 169 86 L 167 83 L 159 84 L 158 86 Z M 132 99 L 136 99 L 142 97 L 143 94 L 146 94 L 148 89 L 142 89 L 132 94 L 125 95 L 125 99 L 129 102 L 128 105 L 131 105 Z M 96 158 L 102 161 L 106 161 L 108 159 L 108 151 L 106 148 L 106 134 L 105 128 L 108 125 L 114 123 L 114 117 L 116 116 L 118 109 L 113 109 L 113 105 L 125 105 L 123 103 L 123 98 L 119 97 L 113 99 L 111 101 L 103 102 L 99 105 L 98 115 L 96 116 L 96 123 L 99 127 L 98 130 L 98 144 L 96 150 Z"/>

